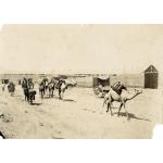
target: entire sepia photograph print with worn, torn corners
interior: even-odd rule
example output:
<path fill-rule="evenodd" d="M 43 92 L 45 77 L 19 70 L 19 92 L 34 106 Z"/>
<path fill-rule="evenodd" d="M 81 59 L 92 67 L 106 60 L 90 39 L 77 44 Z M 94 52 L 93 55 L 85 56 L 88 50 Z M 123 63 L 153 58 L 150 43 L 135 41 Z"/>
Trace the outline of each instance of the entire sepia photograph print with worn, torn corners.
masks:
<path fill-rule="evenodd" d="M 162 24 L 4 24 L 1 139 L 151 139 L 163 123 Z"/>

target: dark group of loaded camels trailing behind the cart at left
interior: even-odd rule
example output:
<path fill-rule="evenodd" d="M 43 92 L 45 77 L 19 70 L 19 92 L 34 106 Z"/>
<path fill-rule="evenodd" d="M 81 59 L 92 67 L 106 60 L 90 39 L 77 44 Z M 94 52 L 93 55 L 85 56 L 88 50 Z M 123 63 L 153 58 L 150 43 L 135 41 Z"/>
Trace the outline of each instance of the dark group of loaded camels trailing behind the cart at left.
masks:
<path fill-rule="evenodd" d="M 35 96 L 39 93 L 40 98 L 53 98 L 54 90 L 58 91 L 59 99 L 63 99 L 64 92 L 68 87 L 75 87 L 76 83 L 71 83 L 70 80 L 66 80 L 62 77 L 54 79 L 54 78 L 47 78 L 39 80 L 37 83 L 38 91 L 35 87 L 36 82 L 33 80 L 33 78 L 23 77 L 22 80 L 18 80 L 18 85 L 21 85 L 25 101 L 33 104 L 35 101 Z M 1 85 L 2 93 L 4 93 L 5 87 L 8 88 L 8 92 L 13 97 L 15 93 L 15 84 L 12 80 L 9 80 L 8 83 L 3 83 Z"/>

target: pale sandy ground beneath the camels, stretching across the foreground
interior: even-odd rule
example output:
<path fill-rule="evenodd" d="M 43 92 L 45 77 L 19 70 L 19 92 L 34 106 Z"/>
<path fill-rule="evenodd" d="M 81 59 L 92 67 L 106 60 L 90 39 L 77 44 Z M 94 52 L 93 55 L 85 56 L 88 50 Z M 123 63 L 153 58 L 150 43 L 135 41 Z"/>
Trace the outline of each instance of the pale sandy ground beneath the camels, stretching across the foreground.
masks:
<path fill-rule="evenodd" d="M 37 88 L 36 88 L 37 89 Z M 105 113 L 103 99 L 95 96 L 91 88 L 71 88 L 64 100 L 46 98 L 41 101 L 37 92 L 34 105 L 24 100 L 23 91 L 16 86 L 14 97 L 0 92 L 0 131 L 7 138 L 16 139 L 143 139 L 152 137 L 152 129 L 162 121 L 162 92 L 146 89 L 126 106 L 117 117 Z M 118 103 L 114 103 L 117 105 Z"/>

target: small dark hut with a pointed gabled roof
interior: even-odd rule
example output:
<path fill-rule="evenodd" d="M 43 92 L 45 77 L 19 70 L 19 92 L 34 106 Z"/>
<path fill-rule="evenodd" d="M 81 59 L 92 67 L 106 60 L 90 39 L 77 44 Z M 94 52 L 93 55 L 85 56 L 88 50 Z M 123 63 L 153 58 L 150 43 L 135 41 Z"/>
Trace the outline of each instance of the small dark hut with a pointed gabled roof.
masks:
<path fill-rule="evenodd" d="M 158 78 L 159 78 L 159 72 L 153 66 L 150 65 L 145 72 L 145 88 L 158 88 Z"/>

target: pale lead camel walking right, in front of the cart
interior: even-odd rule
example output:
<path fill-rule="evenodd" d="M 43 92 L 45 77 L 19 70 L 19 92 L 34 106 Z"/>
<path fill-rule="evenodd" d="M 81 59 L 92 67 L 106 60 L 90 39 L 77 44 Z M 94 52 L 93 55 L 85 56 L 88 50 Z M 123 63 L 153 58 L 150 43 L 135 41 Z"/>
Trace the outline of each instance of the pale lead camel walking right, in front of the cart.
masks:
<path fill-rule="evenodd" d="M 110 110 L 111 115 L 113 115 L 112 106 L 111 106 L 112 102 L 113 101 L 121 102 L 121 105 L 120 105 L 118 112 L 117 112 L 117 116 L 120 116 L 121 109 L 122 109 L 122 106 L 124 106 L 127 120 L 129 120 L 129 115 L 128 115 L 125 104 L 127 101 L 133 100 L 140 93 L 142 93 L 142 90 L 135 89 L 134 92 L 128 92 L 125 88 L 122 88 L 121 93 L 118 95 L 116 91 L 114 91 L 111 88 L 111 90 L 104 96 L 103 106 L 104 106 L 104 104 L 106 104 L 106 108 L 108 108 L 106 112 L 109 112 L 109 110 Z"/>

